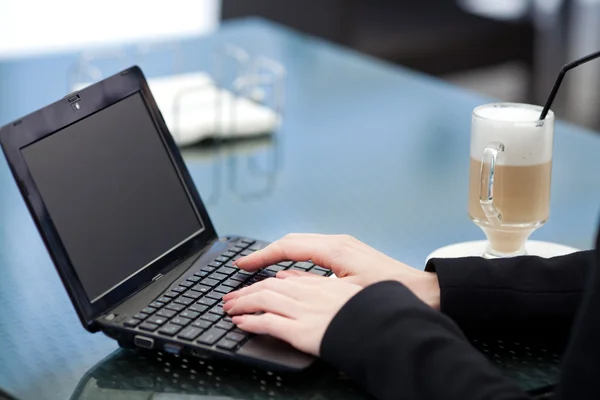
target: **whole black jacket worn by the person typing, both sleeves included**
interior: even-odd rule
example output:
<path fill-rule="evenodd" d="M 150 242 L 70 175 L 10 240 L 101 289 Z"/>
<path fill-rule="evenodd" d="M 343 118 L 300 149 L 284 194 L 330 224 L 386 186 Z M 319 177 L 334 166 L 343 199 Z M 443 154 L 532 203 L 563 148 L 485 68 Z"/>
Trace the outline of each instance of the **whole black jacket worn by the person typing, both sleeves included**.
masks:
<path fill-rule="evenodd" d="M 600 399 L 600 236 L 596 251 L 542 259 L 434 259 L 441 311 L 397 282 L 354 296 L 321 356 L 380 399 L 527 399 L 465 338 L 476 331 L 568 341 L 557 399 Z"/>

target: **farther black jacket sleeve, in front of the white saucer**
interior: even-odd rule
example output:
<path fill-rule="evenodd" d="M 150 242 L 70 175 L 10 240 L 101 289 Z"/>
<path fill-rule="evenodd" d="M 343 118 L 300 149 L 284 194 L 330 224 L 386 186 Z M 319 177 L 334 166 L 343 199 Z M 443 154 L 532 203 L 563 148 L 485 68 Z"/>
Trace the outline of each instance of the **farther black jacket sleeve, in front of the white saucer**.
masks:
<path fill-rule="evenodd" d="M 539 336 L 564 342 L 582 301 L 593 251 L 544 259 L 524 256 L 432 259 L 441 311 L 467 335 Z"/>

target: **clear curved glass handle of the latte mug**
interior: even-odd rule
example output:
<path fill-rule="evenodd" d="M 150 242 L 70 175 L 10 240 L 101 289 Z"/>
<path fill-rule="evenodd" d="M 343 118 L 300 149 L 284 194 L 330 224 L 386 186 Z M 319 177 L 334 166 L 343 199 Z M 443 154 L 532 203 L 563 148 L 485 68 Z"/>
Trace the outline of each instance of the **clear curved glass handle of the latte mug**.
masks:
<path fill-rule="evenodd" d="M 502 143 L 490 143 L 486 146 L 481 157 L 479 203 L 488 222 L 492 225 L 500 225 L 502 221 L 502 214 L 494 205 L 494 175 L 498 153 L 503 151 L 504 145 Z"/>

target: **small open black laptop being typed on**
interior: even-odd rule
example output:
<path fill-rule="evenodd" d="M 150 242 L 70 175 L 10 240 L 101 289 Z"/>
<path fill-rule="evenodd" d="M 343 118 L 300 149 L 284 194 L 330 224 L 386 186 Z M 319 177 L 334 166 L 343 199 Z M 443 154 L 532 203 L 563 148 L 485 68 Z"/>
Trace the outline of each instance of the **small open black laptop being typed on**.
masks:
<path fill-rule="evenodd" d="M 303 370 L 314 358 L 237 329 L 222 296 L 284 269 L 232 262 L 267 245 L 218 236 L 134 66 L 0 129 L 0 143 L 81 323 L 123 348 Z"/>

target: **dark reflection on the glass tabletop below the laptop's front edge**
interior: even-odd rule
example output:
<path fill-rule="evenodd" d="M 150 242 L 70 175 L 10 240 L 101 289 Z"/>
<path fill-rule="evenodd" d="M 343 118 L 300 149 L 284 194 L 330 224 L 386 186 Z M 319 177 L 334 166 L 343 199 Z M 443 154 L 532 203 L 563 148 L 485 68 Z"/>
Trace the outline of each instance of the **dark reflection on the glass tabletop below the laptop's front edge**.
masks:
<path fill-rule="evenodd" d="M 370 399 L 331 367 L 277 373 L 221 360 L 118 350 L 90 369 L 71 400 Z"/>

